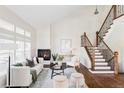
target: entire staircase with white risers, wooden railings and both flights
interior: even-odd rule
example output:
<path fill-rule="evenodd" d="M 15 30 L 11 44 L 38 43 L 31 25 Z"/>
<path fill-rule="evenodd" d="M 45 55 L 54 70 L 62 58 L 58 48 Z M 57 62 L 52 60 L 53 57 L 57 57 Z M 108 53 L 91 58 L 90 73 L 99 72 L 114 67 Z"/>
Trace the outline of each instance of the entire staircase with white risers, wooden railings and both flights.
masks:
<path fill-rule="evenodd" d="M 118 52 L 113 52 L 104 42 L 104 37 L 111 29 L 113 21 L 124 15 L 123 5 L 113 5 L 101 28 L 96 32 L 96 45 L 93 46 L 86 33 L 81 36 L 81 46 L 85 47 L 91 60 L 91 73 L 114 73 L 118 75 Z"/>

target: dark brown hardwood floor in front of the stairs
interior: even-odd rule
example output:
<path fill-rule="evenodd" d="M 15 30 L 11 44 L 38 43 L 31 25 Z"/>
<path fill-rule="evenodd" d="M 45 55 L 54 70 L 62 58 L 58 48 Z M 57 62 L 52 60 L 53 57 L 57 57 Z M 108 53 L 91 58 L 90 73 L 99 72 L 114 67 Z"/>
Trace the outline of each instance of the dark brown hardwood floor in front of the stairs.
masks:
<path fill-rule="evenodd" d="M 124 88 L 124 74 L 119 74 L 118 79 L 113 74 L 92 74 L 82 64 L 76 70 L 84 75 L 90 88 Z"/>

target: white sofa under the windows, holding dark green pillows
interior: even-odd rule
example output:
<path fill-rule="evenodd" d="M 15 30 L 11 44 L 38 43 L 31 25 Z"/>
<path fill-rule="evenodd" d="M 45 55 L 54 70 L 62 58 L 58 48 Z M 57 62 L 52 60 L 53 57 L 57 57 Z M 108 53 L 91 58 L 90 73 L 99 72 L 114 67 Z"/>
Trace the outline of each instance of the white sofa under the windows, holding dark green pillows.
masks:
<path fill-rule="evenodd" d="M 36 70 L 37 75 L 43 69 L 43 58 L 39 58 L 39 63 L 34 67 L 28 66 L 11 66 L 10 69 L 10 86 L 12 87 L 28 87 L 32 83 L 31 70 Z M 8 84 L 7 84 L 8 85 Z"/>

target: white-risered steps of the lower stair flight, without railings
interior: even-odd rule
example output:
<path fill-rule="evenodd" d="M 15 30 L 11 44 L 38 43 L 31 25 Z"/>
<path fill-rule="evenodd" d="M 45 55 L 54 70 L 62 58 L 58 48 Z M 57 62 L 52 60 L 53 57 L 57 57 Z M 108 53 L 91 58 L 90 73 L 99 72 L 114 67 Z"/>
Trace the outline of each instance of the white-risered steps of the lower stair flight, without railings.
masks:
<path fill-rule="evenodd" d="M 102 53 L 100 52 L 100 49 L 98 47 L 93 47 L 95 51 L 95 66 L 94 70 L 90 69 L 89 71 L 91 73 L 97 74 L 97 73 L 114 73 L 113 70 L 111 70 L 111 66 L 109 66 L 108 62 L 106 62 L 105 58 L 103 57 Z M 93 51 L 89 49 L 90 55 L 93 54 Z"/>

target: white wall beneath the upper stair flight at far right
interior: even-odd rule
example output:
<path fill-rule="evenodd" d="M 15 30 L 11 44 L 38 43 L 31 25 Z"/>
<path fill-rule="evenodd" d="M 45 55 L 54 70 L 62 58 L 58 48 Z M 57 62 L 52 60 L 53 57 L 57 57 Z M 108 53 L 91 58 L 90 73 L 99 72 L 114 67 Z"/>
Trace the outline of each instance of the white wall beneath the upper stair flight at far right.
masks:
<path fill-rule="evenodd" d="M 104 40 L 113 51 L 119 52 L 119 72 L 124 72 L 124 17 L 114 21 Z"/>

